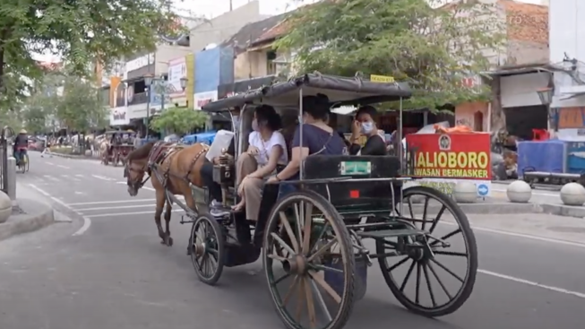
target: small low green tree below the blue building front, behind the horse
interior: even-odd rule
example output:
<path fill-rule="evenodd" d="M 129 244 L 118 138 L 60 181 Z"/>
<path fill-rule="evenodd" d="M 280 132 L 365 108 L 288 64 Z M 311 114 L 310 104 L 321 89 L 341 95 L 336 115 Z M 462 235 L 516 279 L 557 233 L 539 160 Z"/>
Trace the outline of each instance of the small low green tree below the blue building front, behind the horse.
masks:
<path fill-rule="evenodd" d="M 196 128 L 202 128 L 207 121 L 207 114 L 189 108 L 168 108 L 159 117 L 151 121 L 151 128 L 157 132 L 169 132 L 184 135 Z"/>

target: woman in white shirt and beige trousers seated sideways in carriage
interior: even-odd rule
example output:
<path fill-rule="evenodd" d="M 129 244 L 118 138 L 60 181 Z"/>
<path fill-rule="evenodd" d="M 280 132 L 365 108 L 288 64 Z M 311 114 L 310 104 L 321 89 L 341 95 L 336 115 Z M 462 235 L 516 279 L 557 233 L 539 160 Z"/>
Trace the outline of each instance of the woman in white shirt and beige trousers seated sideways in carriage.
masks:
<path fill-rule="evenodd" d="M 279 132 L 281 127 L 280 116 L 274 108 L 268 105 L 256 108 L 248 150 L 237 158 L 237 194 L 241 201 L 234 210 L 245 209 L 249 221 L 258 219 L 264 178 L 288 164 L 287 144 Z"/>

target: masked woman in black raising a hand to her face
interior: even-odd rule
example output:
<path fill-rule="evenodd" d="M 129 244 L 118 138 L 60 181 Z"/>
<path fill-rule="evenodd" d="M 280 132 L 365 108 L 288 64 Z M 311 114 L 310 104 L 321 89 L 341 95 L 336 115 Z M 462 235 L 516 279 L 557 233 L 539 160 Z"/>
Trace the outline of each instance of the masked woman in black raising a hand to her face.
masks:
<path fill-rule="evenodd" d="M 386 143 L 374 123 L 376 110 L 371 106 L 357 109 L 356 120 L 351 125 L 351 138 L 349 154 L 351 155 L 386 155 Z M 364 134 L 367 137 L 366 144 L 362 147 L 357 143 L 359 137 Z"/>

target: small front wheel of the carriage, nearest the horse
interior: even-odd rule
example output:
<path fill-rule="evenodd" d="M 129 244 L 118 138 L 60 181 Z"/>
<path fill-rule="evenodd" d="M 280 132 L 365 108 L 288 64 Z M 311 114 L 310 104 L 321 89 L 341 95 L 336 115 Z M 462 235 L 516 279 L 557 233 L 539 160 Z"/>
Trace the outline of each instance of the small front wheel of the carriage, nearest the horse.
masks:
<path fill-rule="evenodd" d="M 218 221 L 210 215 L 203 214 L 191 228 L 191 260 L 195 273 L 199 280 L 209 285 L 219 281 L 223 271 L 224 257 L 224 236 Z"/>

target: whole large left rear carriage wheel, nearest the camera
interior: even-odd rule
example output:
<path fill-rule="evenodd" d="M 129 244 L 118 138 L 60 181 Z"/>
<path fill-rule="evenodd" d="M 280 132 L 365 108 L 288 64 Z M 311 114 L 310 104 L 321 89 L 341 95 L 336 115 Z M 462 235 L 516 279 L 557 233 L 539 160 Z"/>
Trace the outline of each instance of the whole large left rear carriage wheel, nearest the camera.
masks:
<path fill-rule="evenodd" d="M 274 206 L 262 262 L 272 301 L 289 329 L 347 323 L 354 304 L 353 247 L 339 212 L 323 196 L 291 193 Z"/>

